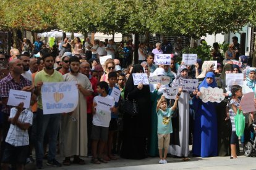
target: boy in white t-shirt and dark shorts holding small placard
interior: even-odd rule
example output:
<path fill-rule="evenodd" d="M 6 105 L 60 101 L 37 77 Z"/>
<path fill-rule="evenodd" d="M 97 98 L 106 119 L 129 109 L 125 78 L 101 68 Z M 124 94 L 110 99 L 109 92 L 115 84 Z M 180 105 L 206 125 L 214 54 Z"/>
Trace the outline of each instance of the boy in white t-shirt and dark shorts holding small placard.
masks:
<path fill-rule="evenodd" d="M 96 96 L 93 99 L 93 125 L 92 125 L 92 163 L 94 164 L 100 164 L 107 163 L 107 161 L 103 160 L 102 153 L 103 149 L 105 147 L 105 143 L 108 141 L 108 127 L 109 122 L 111 119 L 111 111 L 115 112 L 116 109 L 114 107 L 111 107 L 109 111 L 106 110 L 100 110 L 96 109 L 97 102 L 99 103 L 109 103 L 109 102 L 103 102 L 99 99 L 102 99 L 102 97 L 105 98 L 105 100 L 111 100 L 112 103 L 114 103 L 114 98 L 108 95 L 108 83 L 105 81 L 101 81 L 98 83 L 97 86 L 97 92 L 99 96 Z M 106 104 L 106 107 L 108 107 L 108 104 Z M 99 144 L 99 145 L 98 145 Z M 97 150 L 98 148 L 98 150 Z M 98 158 L 97 158 L 97 152 L 98 152 Z"/>

